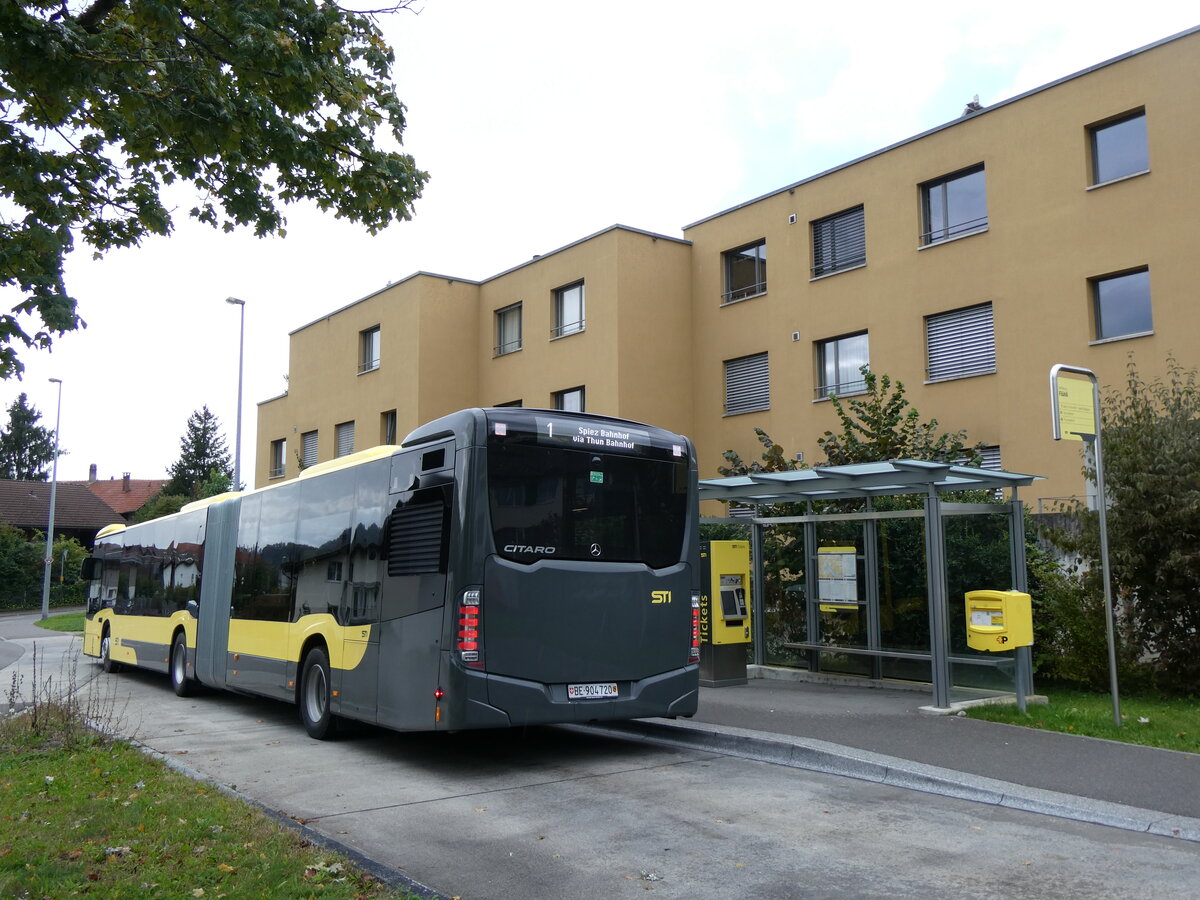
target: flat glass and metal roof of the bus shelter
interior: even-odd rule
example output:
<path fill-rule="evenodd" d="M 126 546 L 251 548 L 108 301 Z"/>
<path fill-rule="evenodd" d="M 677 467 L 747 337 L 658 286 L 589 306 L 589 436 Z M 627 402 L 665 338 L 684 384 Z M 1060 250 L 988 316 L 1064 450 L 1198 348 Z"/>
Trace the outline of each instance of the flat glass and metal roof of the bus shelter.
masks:
<path fill-rule="evenodd" d="M 980 469 L 974 466 L 954 466 L 926 460 L 889 460 L 702 479 L 700 499 L 798 503 L 928 493 L 930 487 L 943 494 L 954 491 L 1024 487 L 1040 479 L 1040 475 Z"/>

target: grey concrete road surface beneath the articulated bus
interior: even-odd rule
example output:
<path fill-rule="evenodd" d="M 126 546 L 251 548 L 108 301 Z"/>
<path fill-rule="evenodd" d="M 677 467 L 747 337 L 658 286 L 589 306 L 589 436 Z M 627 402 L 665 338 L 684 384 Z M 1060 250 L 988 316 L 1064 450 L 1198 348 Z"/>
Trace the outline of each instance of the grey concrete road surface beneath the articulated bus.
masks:
<path fill-rule="evenodd" d="M 1190 900 L 1200 881 L 1194 842 L 727 754 L 577 728 L 322 743 L 281 703 L 92 676 L 120 733 L 445 896 Z"/>

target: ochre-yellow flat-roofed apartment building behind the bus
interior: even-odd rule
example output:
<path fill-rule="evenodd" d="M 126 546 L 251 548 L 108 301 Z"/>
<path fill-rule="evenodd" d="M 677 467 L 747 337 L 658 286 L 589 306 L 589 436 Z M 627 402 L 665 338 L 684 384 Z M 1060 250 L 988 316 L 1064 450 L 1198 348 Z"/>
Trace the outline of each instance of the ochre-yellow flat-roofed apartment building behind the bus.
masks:
<path fill-rule="evenodd" d="M 835 127 L 835 126 L 832 126 Z M 1050 437 L 1056 362 L 1123 383 L 1200 365 L 1200 29 L 683 229 L 613 226 L 481 282 L 419 272 L 292 334 L 256 485 L 469 406 L 649 421 L 821 458 L 858 367 L 992 464 L 1079 494 Z M 769 252 L 768 252 L 769 251 Z M 768 265 L 769 262 L 769 265 Z"/>

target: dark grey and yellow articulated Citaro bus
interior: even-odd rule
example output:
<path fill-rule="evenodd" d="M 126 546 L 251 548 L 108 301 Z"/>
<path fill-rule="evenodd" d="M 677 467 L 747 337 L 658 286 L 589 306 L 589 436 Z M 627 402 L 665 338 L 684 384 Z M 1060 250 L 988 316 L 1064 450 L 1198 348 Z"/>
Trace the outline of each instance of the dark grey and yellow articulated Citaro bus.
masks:
<path fill-rule="evenodd" d="M 100 532 L 84 653 L 340 719 L 456 731 L 689 716 L 691 443 L 468 409 L 300 478 Z"/>

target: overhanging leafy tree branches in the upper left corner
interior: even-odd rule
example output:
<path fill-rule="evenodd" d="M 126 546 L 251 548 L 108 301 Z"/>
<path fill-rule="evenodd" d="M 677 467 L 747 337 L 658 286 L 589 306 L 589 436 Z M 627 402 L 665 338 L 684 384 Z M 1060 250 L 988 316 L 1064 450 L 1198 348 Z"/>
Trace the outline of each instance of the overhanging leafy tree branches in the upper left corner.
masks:
<path fill-rule="evenodd" d="M 282 234 L 311 200 L 372 234 L 412 216 L 428 175 L 398 146 L 404 107 L 374 16 L 320 0 L 0 4 L 0 378 L 19 346 L 79 328 L 64 282 L 96 256 L 169 234 L 163 193 L 226 232 Z M 395 2 L 392 12 L 408 6 Z M 25 330 L 22 313 L 34 317 Z M 37 322 L 40 319 L 40 323 Z"/>

